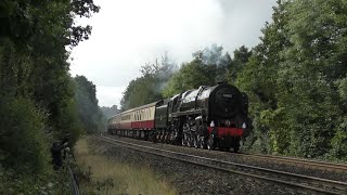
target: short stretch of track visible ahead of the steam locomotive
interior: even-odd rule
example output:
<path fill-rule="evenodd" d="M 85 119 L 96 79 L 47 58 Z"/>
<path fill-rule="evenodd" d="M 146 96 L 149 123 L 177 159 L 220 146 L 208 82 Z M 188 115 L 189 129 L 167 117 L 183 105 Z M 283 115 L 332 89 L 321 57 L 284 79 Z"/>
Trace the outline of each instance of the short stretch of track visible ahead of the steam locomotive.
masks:
<path fill-rule="evenodd" d="M 324 169 L 324 170 L 342 171 L 342 172 L 347 173 L 347 165 L 345 165 L 345 164 L 333 164 L 333 162 L 327 162 L 327 161 L 293 158 L 293 157 L 285 157 L 285 156 L 270 156 L 270 155 L 242 154 L 242 153 L 237 153 L 237 154 L 233 154 L 233 155 L 243 156 L 243 157 L 252 157 L 255 159 L 274 160 L 278 162 L 300 165 L 300 166 Z"/>

